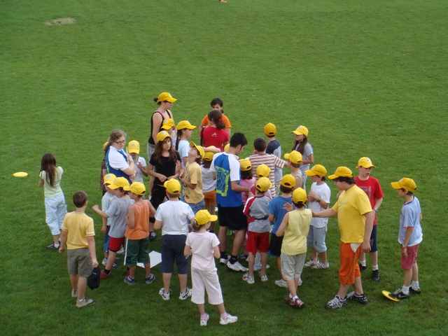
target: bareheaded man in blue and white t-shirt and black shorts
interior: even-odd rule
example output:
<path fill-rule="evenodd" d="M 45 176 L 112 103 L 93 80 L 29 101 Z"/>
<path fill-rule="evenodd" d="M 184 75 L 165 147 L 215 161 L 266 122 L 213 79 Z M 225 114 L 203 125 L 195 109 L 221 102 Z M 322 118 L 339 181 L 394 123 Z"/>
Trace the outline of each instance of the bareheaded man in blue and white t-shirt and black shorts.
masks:
<path fill-rule="evenodd" d="M 221 258 L 219 262 L 234 271 L 247 272 L 238 261 L 238 253 L 243 246 L 246 237 L 247 220 L 243 214 L 243 201 L 241 193 L 251 196 L 248 188 L 239 186 L 239 162 L 238 155 L 243 153 L 247 145 L 247 139 L 242 133 L 235 133 L 230 139 L 230 148 L 227 152 L 214 155 L 210 170 L 216 179 L 216 204 L 218 204 L 219 222 L 219 249 Z M 227 255 L 227 230 L 235 230 L 232 254 Z"/>

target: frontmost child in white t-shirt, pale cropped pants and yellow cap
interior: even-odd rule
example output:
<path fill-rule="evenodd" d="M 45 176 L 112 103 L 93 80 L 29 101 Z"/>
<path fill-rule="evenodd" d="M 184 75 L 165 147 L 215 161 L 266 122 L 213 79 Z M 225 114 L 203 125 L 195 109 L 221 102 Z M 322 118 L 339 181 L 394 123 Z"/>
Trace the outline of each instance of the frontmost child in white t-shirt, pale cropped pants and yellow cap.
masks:
<path fill-rule="evenodd" d="M 207 325 L 209 314 L 204 309 L 204 295 L 207 290 L 209 304 L 218 306 L 221 313 L 220 324 L 235 323 L 238 318 L 225 312 L 223 293 L 216 272 L 216 266 L 213 257 L 220 258 L 219 240 L 213 233 L 207 232 L 211 222 L 218 219 L 218 216 L 212 216 L 207 210 L 197 211 L 193 230 L 188 234 L 184 255 L 193 255 L 191 259 L 191 281 L 193 282 L 193 295 L 191 302 L 197 304 L 201 314 L 200 325 Z"/>

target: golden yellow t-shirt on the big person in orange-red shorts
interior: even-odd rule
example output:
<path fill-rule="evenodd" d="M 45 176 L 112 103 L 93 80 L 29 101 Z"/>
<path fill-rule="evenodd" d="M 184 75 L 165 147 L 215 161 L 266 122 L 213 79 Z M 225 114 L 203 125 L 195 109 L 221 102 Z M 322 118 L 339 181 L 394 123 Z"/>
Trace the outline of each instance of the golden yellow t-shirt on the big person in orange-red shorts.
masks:
<path fill-rule="evenodd" d="M 369 198 L 358 186 L 344 190 L 332 207 L 337 212 L 337 222 L 343 243 L 362 243 L 364 240 L 365 216 L 372 211 Z"/>

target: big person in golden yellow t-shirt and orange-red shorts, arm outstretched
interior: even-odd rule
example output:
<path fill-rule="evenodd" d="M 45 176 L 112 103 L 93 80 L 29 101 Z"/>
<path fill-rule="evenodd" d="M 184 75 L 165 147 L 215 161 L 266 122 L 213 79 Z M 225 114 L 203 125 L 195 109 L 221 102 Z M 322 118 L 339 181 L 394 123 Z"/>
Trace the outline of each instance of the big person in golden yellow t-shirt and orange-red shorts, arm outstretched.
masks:
<path fill-rule="evenodd" d="M 367 195 L 356 186 L 353 173 L 347 167 L 337 167 L 335 174 L 328 176 L 335 181 L 336 188 L 341 192 L 336 204 L 321 212 L 313 212 L 314 217 L 334 217 L 337 215 L 339 231 L 341 232 L 339 269 L 339 291 L 334 299 L 325 304 L 325 308 L 338 309 L 347 304 L 347 300 L 367 303 L 363 293 L 358 258 L 361 253 L 370 251 L 370 234 L 374 213 Z M 350 285 L 353 292 L 346 295 Z"/>

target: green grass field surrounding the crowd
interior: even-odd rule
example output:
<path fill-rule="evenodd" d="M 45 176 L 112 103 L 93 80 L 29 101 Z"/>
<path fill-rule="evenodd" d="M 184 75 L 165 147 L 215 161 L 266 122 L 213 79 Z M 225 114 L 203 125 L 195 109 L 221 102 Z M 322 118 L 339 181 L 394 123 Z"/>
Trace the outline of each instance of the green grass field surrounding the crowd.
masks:
<path fill-rule="evenodd" d="M 0 1 L 1 334 L 447 335 L 446 1 L 228 1 Z M 45 24 L 58 18 L 74 22 Z M 76 190 L 90 195 L 101 260 L 101 221 L 91 206 L 101 201 L 102 144 L 121 128 L 144 145 L 153 98 L 163 91 L 178 99 L 176 122 L 193 125 L 221 97 L 232 132 L 248 138 L 244 154 L 272 122 L 283 153 L 293 146 L 290 131 L 306 125 L 315 162 L 329 172 L 372 159 L 385 197 L 378 212 L 381 281 L 371 281 L 370 270 L 363 276 L 369 304 L 323 308 L 339 286 L 332 218 L 330 269 L 304 269 L 301 311 L 289 309 L 286 290 L 274 286 L 274 259 L 269 281 L 253 286 L 218 267 L 235 325 L 218 325 L 217 309 L 206 305 L 211 320 L 200 328 L 195 305 L 177 299 L 175 277 L 174 299 L 163 302 L 159 266 L 155 283 L 147 286 L 139 270 L 130 287 L 120 265 L 98 290 L 87 290 L 93 307 L 73 307 L 66 255 L 45 249 L 51 239 L 38 188 L 41 156 L 51 151 L 64 167 L 69 211 Z M 13 178 L 20 171 L 29 176 Z M 416 181 L 423 211 L 422 293 L 391 302 L 381 290 L 402 285 L 402 200 L 390 182 L 403 176 Z M 151 248 L 160 251 L 159 238 Z"/>

